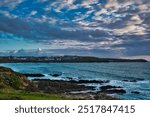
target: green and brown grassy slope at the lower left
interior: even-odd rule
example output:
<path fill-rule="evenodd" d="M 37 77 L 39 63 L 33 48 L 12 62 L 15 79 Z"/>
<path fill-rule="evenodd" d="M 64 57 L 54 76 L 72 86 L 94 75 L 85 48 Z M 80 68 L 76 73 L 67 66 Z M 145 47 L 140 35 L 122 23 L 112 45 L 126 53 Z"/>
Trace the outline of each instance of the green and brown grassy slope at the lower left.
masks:
<path fill-rule="evenodd" d="M 0 67 L 0 99 L 22 100 L 58 100 L 62 96 L 26 91 L 29 81 L 24 75 L 5 67 Z"/>

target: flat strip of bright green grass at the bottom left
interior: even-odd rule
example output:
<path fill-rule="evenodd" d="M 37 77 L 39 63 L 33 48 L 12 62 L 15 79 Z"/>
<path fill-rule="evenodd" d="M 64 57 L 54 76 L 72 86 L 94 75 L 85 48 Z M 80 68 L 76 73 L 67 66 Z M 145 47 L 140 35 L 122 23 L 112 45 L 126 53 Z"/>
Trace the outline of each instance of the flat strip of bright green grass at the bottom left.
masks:
<path fill-rule="evenodd" d="M 65 100 L 66 98 L 56 94 L 39 92 L 24 92 L 14 89 L 1 89 L 0 100 Z"/>

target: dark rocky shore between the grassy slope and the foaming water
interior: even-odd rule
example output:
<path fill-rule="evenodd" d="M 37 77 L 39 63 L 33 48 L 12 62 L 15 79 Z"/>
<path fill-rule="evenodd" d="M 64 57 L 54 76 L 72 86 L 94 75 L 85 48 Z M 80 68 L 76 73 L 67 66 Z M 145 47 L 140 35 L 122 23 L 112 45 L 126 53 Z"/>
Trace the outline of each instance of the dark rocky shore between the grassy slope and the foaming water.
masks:
<path fill-rule="evenodd" d="M 47 80 L 34 79 L 36 88 L 32 91 L 44 92 L 49 94 L 59 94 L 66 98 L 80 99 L 80 100 L 116 100 L 117 97 L 108 96 L 105 92 L 87 92 L 87 90 L 94 90 L 93 86 L 85 86 L 77 81 L 63 81 L 63 80 Z M 32 89 L 32 87 L 28 87 Z M 83 91 L 83 92 L 82 92 Z M 76 92 L 76 93 L 73 93 Z"/>

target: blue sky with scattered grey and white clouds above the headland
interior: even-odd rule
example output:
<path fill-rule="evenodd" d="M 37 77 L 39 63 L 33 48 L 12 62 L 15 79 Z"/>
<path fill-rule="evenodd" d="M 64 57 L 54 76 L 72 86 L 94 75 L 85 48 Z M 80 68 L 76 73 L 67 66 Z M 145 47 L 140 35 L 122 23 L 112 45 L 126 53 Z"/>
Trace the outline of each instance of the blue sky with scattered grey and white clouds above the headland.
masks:
<path fill-rule="evenodd" d="M 1 0 L 5 55 L 150 60 L 150 0 Z"/>

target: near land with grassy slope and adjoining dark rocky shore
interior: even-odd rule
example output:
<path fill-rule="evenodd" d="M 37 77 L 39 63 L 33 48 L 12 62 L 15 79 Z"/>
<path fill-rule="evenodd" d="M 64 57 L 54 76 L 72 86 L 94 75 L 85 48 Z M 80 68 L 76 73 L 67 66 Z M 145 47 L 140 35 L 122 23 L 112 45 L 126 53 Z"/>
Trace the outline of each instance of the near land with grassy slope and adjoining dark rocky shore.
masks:
<path fill-rule="evenodd" d="M 102 81 L 101 81 L 102 83 Z M 0 99 L 71 99 L 71 100 L 116 100 L 105 92 L 71 93 L 91 90 L 92 86 L 81 85 L 76 81 L 34 79 L 28 80 L 21 73 L 10 68 L 0 67 Z"/>

